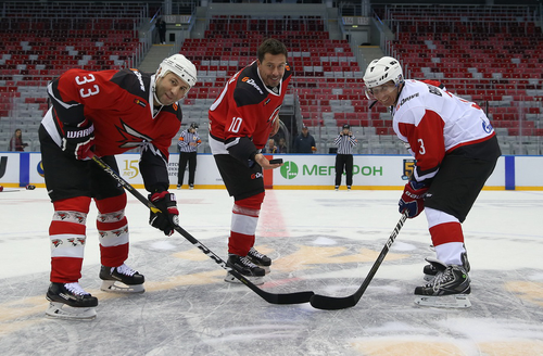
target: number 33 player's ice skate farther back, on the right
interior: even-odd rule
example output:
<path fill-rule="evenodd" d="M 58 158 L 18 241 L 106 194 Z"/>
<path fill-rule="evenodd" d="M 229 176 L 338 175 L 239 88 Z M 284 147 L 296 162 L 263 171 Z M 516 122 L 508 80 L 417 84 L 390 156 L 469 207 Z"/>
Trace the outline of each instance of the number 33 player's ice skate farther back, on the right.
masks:
<path fill-rule="evenodd" d="M 114 293 L 143 293 L 143 282 L 146 278 L 143 275 L 131 269 L 123 264 L 118 267 L 105 267 L 100 269 L 100 279 L 102 285 L 100 289 L 104 292 Z"/>

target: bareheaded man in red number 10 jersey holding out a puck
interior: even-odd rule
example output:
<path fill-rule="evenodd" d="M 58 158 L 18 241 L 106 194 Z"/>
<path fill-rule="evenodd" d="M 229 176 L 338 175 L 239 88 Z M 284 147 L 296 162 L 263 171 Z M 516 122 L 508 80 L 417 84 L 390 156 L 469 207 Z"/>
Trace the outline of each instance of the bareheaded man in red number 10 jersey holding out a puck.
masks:
<path fill-rule="evenodd" d="M 281 166 L 270 164 L 261 150 L 279 129 L 278 114 L 291 78 L 287 54 L 280 41 L 265 40 L 257 60 L 227 81 L 210 109 L 211 150 L 235 201 L 227 264 L 254 277 L 255 283 L 272 265 L 253 245 L 264 200 L 262 169 Z M 230 274 L 225 280 L 236 281 Z"/>

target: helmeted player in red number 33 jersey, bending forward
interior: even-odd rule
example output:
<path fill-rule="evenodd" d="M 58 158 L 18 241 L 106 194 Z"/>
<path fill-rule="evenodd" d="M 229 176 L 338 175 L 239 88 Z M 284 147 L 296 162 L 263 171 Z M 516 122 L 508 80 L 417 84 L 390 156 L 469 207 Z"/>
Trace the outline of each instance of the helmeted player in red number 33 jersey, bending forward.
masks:
<path fill-rule="evenodd" d="M 48 315 L 96 316 L 98 300 L 78 283 L 91 199 L 98 208 L 101 289 L 144 291 L 144 277 L 125 264 L 129 236 L 126 193 L 90 158 L 96 154 L 118 170 L 114 155 L 140 148 L 144 187 L 163 212 L 151 213 L 150 224 L 172 234 L 179 213 L 175 194 L 168 193 L 168 148 L 181 125 L 178 101 L 195 82 L 194 65 L 175 54 L 155 74 L 70 69 L 48 86 L 52 106 L 39 128 L 45 180 L 54 208 L 49 228 Z"/>

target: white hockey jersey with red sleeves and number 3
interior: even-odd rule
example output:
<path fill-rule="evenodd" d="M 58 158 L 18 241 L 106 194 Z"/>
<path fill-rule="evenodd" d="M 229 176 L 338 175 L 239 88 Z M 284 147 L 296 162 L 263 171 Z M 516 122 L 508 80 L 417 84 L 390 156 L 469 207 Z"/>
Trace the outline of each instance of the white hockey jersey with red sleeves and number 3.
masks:
<path fill-rule="evenodd" d="M 433 178 L 445 154 L 495 136 L 479 105 L 419 80 L 405 81 L 391 113 L 394 132 L 417 161 L 417 181 Z"/>

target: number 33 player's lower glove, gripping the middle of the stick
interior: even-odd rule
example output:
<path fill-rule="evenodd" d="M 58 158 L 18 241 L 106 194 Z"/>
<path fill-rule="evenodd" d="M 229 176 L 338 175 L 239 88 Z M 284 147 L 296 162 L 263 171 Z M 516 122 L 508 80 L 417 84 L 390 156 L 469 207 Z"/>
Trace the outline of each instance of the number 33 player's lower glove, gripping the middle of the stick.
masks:
<path fill-rule="evenodd" d="M 151 211 L 149 224 L 164 231 L 165 236 L 172 236 L 174 229 L 179 226 L 179 211 L 177 209 L 175 194 L 163 191 L 150 194 L 149 200 L 160 209 L 156 213 Z"/>

